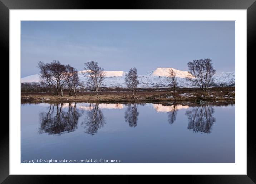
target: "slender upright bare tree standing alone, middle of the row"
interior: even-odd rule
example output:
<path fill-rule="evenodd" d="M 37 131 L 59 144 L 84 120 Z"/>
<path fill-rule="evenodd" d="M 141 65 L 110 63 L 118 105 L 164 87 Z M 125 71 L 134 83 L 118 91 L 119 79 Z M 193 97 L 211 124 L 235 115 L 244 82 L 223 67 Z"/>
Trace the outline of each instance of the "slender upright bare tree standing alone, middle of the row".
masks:
<path fill-rule="evenodd" d="M 125 83 L 129 89 L 132 90 L 132 94 L 134 96 L 137 95 L 137 85 L 139 84 L 138 80 L 138 74 L 137 74 L 137 69 L 131 68 L 129 72 L 125 75 Z"/>

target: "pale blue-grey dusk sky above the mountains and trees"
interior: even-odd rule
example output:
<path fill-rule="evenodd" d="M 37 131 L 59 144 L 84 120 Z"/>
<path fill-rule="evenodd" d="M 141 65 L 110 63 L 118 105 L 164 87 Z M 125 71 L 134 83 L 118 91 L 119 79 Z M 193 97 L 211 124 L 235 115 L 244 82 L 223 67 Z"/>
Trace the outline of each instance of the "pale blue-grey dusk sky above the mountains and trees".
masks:
<path fill-rule="evenodd" d="M 78 71 L 97 61 L 105 71 L 139 75 L 210 58 L 217 73 L 235 71 L 235 21 L 21 21 L 21 77 L 59 60 Z"/>

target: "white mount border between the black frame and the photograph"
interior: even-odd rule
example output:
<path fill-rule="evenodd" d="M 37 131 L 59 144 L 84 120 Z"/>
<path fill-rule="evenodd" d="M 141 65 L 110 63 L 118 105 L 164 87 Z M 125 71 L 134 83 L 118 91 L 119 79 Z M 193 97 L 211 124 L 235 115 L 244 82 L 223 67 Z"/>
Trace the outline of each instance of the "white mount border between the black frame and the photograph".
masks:
<path fill-rule="evenodd" d="M 20 20 L 235 20 L 235 164 L 20 164 Z M 247 10 L 10 10 L 10 175 L 247 175 Z"/>

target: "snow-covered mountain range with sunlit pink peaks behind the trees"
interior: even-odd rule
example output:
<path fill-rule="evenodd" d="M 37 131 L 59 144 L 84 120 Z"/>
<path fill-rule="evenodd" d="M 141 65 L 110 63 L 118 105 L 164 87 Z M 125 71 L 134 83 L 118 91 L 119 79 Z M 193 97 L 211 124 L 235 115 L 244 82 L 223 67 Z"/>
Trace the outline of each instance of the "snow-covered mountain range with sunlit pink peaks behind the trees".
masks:
<path fill-rule="evenodd" d="M 156 88 L 156 87 L 168 87 L 168 70 L 169 68 L 157 68 L 147 72 L 145 75 L 139 75 L 139 88 Z M 186 80 L 189 76 L 188 71 L 181 71 L 173 69 L 177 76 L 178 87 L 196 87 L 193 83 Z M 84 71 L 78 72 L 81 81 L 86 81 L 83 75 Z M 123 71 L 105 71 L 106 78 L 103 81 L 103 87 L 126 87 L 125 86 L 125 74 Z M 27 82 L 39 82 L 39 74 L 30 75 L 21 78 L 21 83 Z M 221 72 L 215 76 L 215 86 L 235 86 L 235 72 Z"/>

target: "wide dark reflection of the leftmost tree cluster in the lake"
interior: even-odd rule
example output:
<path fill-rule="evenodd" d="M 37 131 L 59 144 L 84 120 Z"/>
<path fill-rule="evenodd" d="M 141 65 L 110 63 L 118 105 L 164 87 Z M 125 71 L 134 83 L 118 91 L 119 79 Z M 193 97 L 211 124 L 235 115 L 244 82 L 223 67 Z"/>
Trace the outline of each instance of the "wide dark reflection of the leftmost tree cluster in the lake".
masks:
<path fill-rule="evenodd" d="M 75 131 L 82 114 L 76 106 L 77 103 L 50 104 L 48 112 L 41 112 L 39 115 L 41 121 L 39 134 L 61 134 Z"/>

